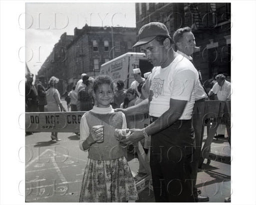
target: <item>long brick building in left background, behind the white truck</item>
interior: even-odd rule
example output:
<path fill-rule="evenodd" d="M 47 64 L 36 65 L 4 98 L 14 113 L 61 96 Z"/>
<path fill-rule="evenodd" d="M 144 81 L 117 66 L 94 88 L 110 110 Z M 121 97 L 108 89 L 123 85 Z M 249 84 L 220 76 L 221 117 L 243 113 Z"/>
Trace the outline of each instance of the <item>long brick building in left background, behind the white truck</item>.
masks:
<path fill-rule="evenodd" d="M 81 29 L 74 28 L 74 35 L 61 35 L 38 75 L 44 74 L 46 79 L 52 75 L 59 77 L 70 89 L 80 79 L 81 73 L 96 76 L 101 64 L 132 51 L 135 41 L 136 28 L 85 24 Z"/>

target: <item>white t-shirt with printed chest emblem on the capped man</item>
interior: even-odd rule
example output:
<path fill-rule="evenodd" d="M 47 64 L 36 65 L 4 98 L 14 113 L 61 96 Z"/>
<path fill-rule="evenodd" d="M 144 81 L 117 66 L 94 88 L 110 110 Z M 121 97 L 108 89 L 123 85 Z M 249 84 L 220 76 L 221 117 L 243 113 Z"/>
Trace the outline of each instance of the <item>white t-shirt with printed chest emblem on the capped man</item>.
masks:
<path fill-rule="evenodd" d="M 149 115 L 162 115 L 169 109 L 169 101 L 172 98 L 187 101 L 179 119 L 191 119 L 198 83 L 197 70 L 180 54 L 167 67 L 154 67 L 151 74 L 150 93 L 153 96 L 149 105 Z"/>

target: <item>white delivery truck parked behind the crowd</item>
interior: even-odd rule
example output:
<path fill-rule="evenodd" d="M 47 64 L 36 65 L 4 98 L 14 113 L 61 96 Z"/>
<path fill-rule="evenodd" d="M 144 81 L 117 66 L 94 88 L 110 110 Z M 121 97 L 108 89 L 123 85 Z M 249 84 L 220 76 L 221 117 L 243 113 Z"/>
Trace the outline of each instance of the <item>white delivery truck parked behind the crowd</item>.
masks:
<path fill-rule="evenodd" d="M 122 80 L 124 88 L 129 88 L 134 80 L 131 72 L 134 68 L 140 68 L 141 75 L 151 71 L 153 65 L 146 59 L 143 52 L 127 52 L 100 66 L 100 74 L 109 75 L 114 82 Z"/>

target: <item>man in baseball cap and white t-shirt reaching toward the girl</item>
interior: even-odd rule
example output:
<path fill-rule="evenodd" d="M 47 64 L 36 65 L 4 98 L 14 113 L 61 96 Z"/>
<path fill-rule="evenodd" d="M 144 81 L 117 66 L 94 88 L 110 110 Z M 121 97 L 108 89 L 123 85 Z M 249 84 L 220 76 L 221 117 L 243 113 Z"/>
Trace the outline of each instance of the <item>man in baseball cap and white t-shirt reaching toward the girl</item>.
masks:
<path fill-rule="evenodd" d="M 173 51 L 172 38 L 163 23 L 143 25 L 138 37 L 133 47 L 140 46 L 154 65 L 150 94 L 148 99 L 122 111 L 125 114 L 149 111 L 151 123 L 143 129 L 132 129 L 120 142 L 131 144 L 151 135 L 150 168 L 155 201 L 193 202 L 191 115 L 198 72 L 188 59 Z"/>

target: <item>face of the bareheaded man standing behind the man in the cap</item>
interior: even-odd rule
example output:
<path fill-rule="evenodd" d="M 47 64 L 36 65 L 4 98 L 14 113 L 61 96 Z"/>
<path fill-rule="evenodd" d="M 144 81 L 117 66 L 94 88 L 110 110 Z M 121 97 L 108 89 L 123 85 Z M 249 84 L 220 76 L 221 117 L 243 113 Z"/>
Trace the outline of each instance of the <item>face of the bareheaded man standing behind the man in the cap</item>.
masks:
<path fill-rule="evenodd" d="M 176 43 L 178 50 L 190 56 L 195 47 L 195 38 L 192 32 L 184 32 L 180 40 Z"/>

